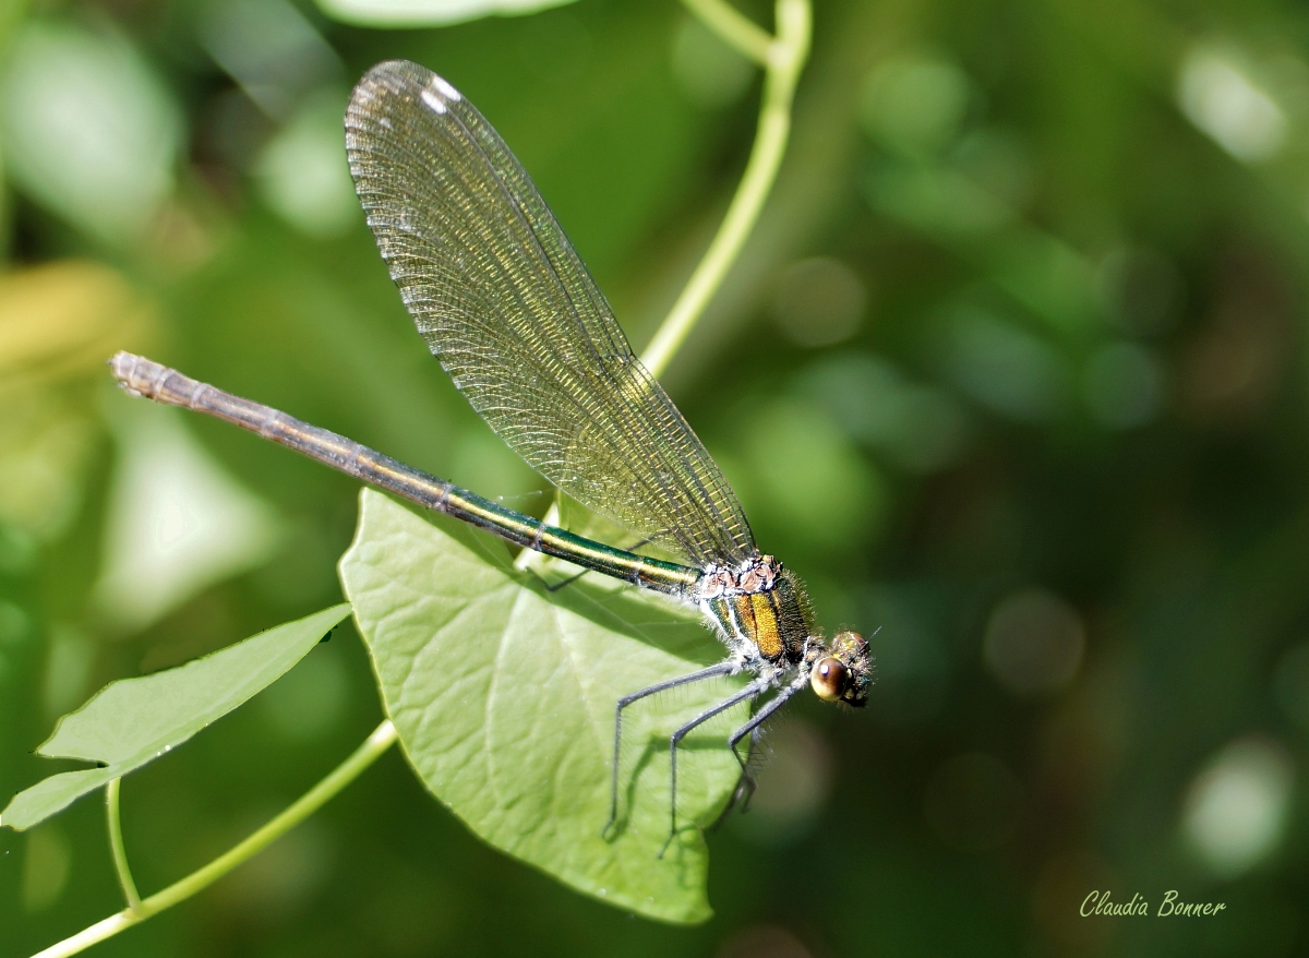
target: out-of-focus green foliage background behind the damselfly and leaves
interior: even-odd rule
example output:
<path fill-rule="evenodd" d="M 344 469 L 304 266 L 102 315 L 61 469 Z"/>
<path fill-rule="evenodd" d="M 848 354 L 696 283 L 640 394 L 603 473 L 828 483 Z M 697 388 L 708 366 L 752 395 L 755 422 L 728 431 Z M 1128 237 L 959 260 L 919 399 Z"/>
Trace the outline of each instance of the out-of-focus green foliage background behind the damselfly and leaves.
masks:
<path fill-rule="evenodd" d="M 774 729 L 758 806 L 709 839 L 709 923 L 492 852 L 393 754 L 99 953 L 1302 953 L 1306 16 L 817 3 L 776 191 L 665 380 L 823 624 L 880 627 L 878 684 Z M 463 90 L 640 344 L 753 136 L 757 81 L 696 30 L 672 1 L 404 31 L 275 0 L 4 8 L 0 800 L 105 682 L 339 599 L 352 484 L 130 410 L 114 349 L 546 506 L 347 202 L 353 79 L 404 56 Z M 132 776 L 143 893 L 378 718 L 339 631 Z M 1105 889 L 1227 910 L 1079 916 Z M 5 954 L 118 907 L 98 802 L 0 831 Z"/>

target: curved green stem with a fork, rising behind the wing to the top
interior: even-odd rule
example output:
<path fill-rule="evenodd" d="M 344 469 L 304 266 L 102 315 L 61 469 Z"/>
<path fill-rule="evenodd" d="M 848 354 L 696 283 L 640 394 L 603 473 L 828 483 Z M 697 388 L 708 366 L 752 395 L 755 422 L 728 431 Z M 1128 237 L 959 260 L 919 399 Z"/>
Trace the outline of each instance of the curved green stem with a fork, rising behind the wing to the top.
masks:
<path fill-rule="evenodd" d="M 763 30 L 723 4 L 721 0 L 683 0 L 683 3 L 700 16 L 709 29 L 746 55 L 750 54 L 742 48 L 741 43 L 753 43 L 754 41 L 746 39 L 753 34 L 742 30 L 741 22 L 749 24 L 753 30 L 759 30 L 767 37 Z M 809 0 L 778 0 L 776 18 L 778 35 L 768 38 L 761 60 L 764 64 L 763 102 L 759 106 L 758 131 L 750 151 L 750 160 L 746 162 L 745 175 L 741 177 L 741 183 L 737 186 L 736 195 L 732 198 L 713 242 L 709 243 L 704 258 L 695 267 L 695 272 L 691 274 L 691 279 L 682 289 L 677 302 L 673 304 L 673 309 L 664 319 L 658 332 L 654 334 L 654 339 L 645 348 L 641 361 L 654 376 L 664 372 L 673 355 L 690 335 L 713 293 L 723 284 L 732 263 L 740 255 L 741 247 L 759 219 L 763 203 L 778 178 L 781 157 L 787 152 L 796 81 L 809 58 Z"/>

